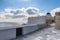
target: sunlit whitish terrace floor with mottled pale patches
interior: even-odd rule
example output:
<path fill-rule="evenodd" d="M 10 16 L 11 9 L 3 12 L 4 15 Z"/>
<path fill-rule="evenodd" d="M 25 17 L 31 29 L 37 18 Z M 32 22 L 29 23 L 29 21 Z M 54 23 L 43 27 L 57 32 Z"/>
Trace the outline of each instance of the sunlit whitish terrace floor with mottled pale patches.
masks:
<path fill-rule="evenodd" d="M 50 26 L 14 40 L 60 40 L 60 30 Z"/>

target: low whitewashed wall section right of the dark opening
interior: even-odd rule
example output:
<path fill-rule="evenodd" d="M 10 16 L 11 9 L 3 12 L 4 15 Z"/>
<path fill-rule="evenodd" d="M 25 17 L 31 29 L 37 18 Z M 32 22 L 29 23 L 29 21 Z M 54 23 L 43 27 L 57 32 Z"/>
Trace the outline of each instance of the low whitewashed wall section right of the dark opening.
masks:
<path fill-rule="evenodd" d="M 22 28 L 22 35 L 34 32 L 38 29 L 45 28 L 45 27 L 47 27 L 46 24 L 41 24 L 41 25 L 39 24 L 39 25 L 32 25 L 32 26 L 29 25 L 29 26 L 23 27 Z"/>

